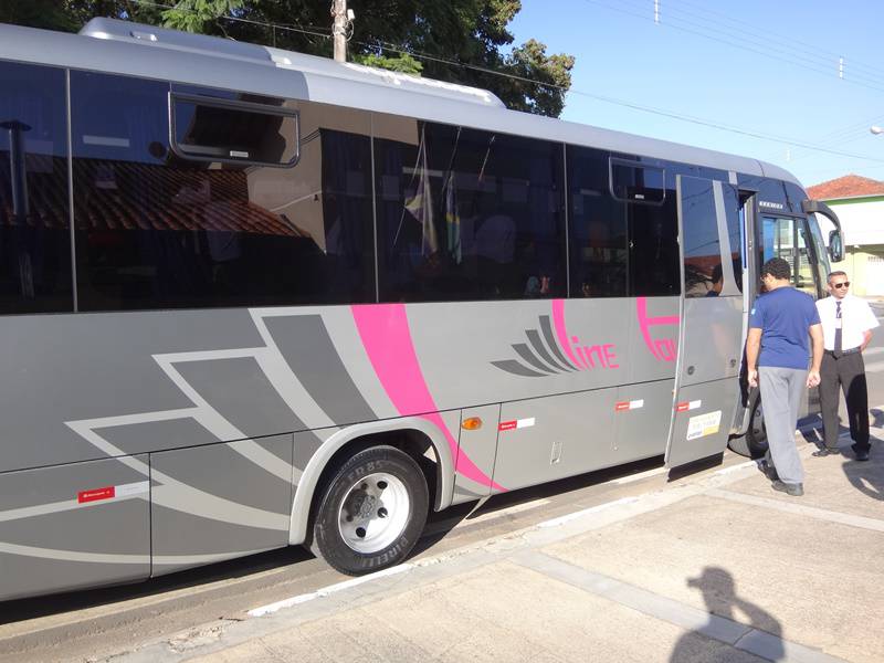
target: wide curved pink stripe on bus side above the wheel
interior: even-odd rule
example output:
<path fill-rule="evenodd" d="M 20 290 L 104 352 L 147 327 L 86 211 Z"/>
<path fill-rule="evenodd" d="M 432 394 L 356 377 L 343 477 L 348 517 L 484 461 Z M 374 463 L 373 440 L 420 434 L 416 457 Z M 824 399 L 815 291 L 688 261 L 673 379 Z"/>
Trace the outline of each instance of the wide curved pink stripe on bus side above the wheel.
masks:
<path fill-rule="evenodd" d="M 445 425 L 427 388 L 404 304 L 373 304 L 350 306 L 352 318 L 362 339 L 371 366 L 378 375 L 387 396 L 403 417 L 420 415 L 439 428 L 448 440 L 456 471 L 466 478 L 497 491 L 506 491 L 494 483 L 466 454 L 457 453 L 457 441 Z"/>

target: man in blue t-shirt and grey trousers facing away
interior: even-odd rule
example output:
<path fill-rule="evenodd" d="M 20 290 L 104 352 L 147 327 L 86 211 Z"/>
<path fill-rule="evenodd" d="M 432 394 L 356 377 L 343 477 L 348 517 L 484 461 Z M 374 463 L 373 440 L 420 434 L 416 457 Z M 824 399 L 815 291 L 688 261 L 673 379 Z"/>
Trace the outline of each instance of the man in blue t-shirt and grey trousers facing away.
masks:
<path fill-rule="evenodd" d="M 767 294 L 755 301 L 749 315 L 746 368 L 749 386 L 761 388 L 772 487 L 799 497 L 804 494 L 804 467 L 794 444 L 798 406 L 804 385 L 820 383 L 823 345 L 813 298 L 791 287 L 790 277 L 789 263 L 781 257 L 771 257 L 761 267 Z M 809 371 L 808 336 L 813 340 Z"/>

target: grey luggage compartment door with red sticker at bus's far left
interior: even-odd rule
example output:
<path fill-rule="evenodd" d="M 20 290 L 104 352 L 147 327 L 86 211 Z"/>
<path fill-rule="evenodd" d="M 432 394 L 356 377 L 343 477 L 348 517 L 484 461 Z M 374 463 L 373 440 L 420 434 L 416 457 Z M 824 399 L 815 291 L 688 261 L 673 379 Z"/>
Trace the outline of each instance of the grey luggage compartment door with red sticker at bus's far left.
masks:
<path fill-rule="evenodd" d="M 147 456 L 0 474 L 0 600 L 146 579 Z"/>

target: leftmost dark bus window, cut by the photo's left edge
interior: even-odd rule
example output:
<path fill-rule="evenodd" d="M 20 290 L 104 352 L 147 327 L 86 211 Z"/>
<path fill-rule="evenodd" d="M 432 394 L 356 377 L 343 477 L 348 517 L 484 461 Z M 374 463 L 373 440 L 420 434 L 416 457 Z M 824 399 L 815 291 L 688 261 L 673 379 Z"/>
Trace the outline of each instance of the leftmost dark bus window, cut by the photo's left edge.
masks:
<path fill-rule="evenodd" d="M 64 71 L 0 63 L 0 314 L 73 311 Z"/>

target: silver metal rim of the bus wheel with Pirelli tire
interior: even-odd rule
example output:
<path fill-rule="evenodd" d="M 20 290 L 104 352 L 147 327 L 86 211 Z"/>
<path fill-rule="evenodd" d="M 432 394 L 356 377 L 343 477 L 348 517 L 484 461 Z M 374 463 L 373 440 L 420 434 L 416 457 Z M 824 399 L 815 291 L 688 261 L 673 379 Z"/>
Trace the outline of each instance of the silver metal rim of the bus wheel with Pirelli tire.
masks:
<path fill-rule="evenodd" d="M 411 498 L 401 480 L 387 472 L 352 484 L 338 511 L 338 532 L 352 550 L 373 554 L 400 537 L 411 515 Z"/>

